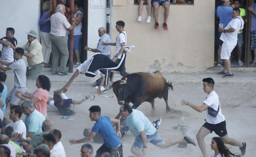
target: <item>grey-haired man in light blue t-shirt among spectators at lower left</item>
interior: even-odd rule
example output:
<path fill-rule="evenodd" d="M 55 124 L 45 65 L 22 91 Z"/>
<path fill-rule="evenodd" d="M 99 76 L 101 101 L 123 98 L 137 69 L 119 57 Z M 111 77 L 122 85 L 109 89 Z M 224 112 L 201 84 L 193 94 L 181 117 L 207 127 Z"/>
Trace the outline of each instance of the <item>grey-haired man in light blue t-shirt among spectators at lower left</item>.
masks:
<path fill-rule="evenodd" d="M 22 112 L 26 115 L 24 120 L 27 128 L 26 137 L 33 138 L 35 135 L 42 133 L 42 124 L 45 117 L 35 109 L 33 102 L 25 100 L 21 107 Z"/>

